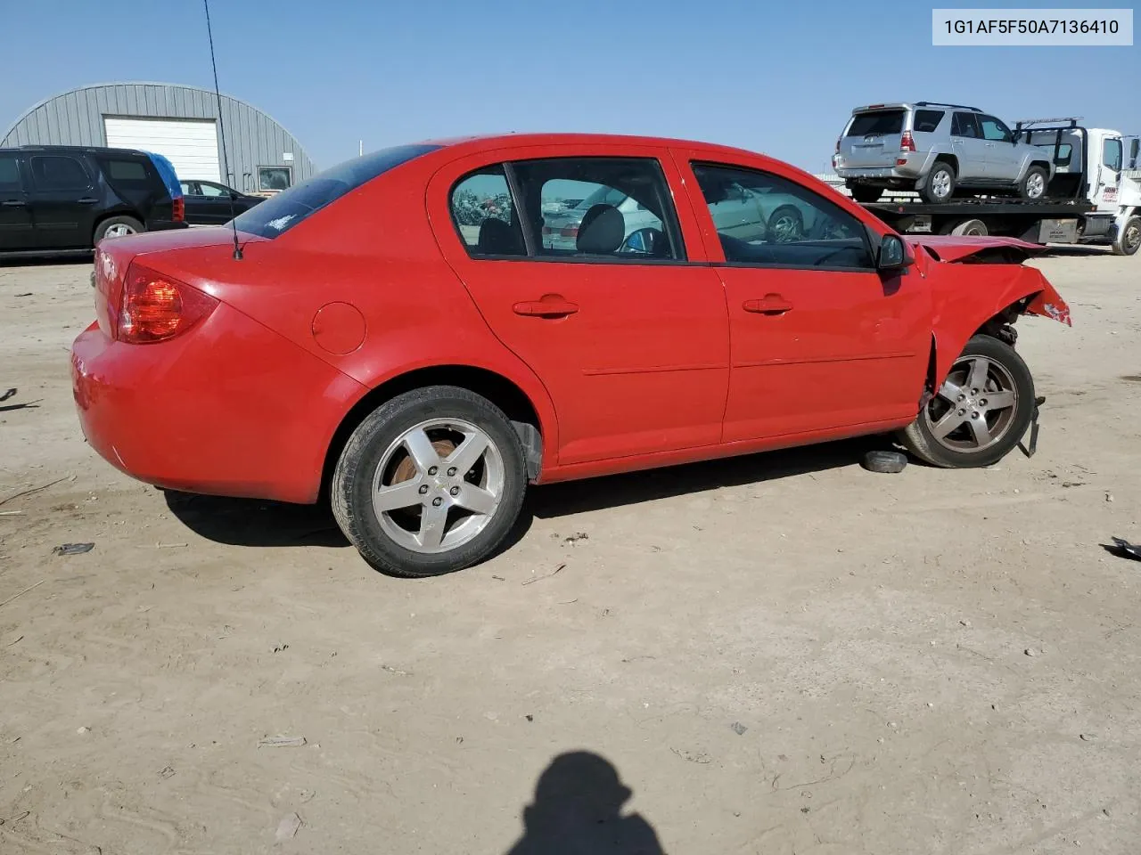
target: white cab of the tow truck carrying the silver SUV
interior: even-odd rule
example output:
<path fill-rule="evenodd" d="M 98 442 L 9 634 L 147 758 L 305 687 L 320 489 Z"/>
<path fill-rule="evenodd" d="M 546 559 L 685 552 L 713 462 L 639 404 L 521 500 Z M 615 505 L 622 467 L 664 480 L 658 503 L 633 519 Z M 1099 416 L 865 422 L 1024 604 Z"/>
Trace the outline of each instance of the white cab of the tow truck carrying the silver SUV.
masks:
<path fill-rule="evenodd" d="M 1081 243 L 1109 244 L 1119 255 L 1141 249 L 1139 140 L 1106 128 L 1083 128 L 1077 119 L 1015 123 L 1015 135 L 1047 150 L 1054 178 L 1052 197 L 1085 198 L 1093 210 L 1076 223 Z"/>

